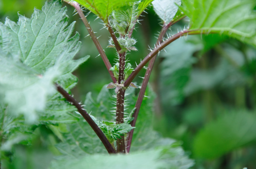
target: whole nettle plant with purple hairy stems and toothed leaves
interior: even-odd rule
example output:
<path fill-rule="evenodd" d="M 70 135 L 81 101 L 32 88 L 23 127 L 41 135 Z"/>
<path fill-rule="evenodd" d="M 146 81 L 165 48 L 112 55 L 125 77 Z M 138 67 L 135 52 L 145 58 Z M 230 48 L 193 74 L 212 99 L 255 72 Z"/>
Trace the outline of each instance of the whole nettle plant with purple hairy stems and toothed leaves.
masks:
<path fill-rule="evenodd" d="M 88 94 L 83 105 L 70 94 L 77 81 L 72 72 L 89 56 L 73 59 L 82 44 L 77 32 L 71 36 L 75 22 L 68 25 L 66 7 L 61 8 L 58 0 L 47 1 L 42 11 L 35 9 L 31 18 L 19 15 L 17 23 L 6 18 L 0 23 L 1 159 L 10 158 L 7 152 L 14 144 L 30 144 L 35 129 L 46 125 L 62 141 L 56 147 L 63 155 L 51 168 L 191 167 L 193 160 L 179 144 L 152 129 L 154 94 L 146 88 L 156 55 L 176 39 L 194 34 L 219 33 L 256 46 L 255 0 L 63 1 L 82 19 L 112 81 L 97 101 Z M 150 4 L 162 20 L 162 30 L 155 46 L 135 65 L 127 60 L 129 51 L 137 50 L 132 32 Z M 115 65 L 110 64 L 84 9 L 108 29 L 107 47 L 118 56 Z M 183 18 L 190 19 L 189 24 L 169 34 Z M 139 87 L 132 81 L 142 68 L 147 71 Z M 138 96 L 134 88 L 140 88 Z"/>

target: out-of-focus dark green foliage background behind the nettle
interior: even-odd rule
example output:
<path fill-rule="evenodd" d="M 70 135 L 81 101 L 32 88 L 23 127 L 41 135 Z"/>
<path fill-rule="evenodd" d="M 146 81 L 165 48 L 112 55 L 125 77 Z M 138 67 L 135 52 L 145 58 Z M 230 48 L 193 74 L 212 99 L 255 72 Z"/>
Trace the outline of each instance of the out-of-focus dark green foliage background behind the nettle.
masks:
<path fill-rule="evenodd" d="M 43 4 L 44 1 L 40 0 L 0 0 L 1 22 L 4 22 L 6 16 L 17 21 L 17 11 L 30 17 L 34 6 L 41 9 Z M 76 57 L 81 58 L 87 54 L 91 56 L 74 73 L 79 81 L 72 93 L 78 101 L 84 101 L 85 98 L 88 101 L 89 95 L 97 97 L 101 88 L 110 82 L 110 78 L 101 58 L 96 57 L 98 53 L 91 39 L 84 38 L 87 32 L 83 23 L 78 20 L 78 15 L 71 17 L 73 9 L 70 6 L 68 9 L 69 22 L 77 21 L 75 30 L 80 33 L 82 41 L 82 48 Z M 139 63 L 147 55 L 148 45 L 155 43 L 155 33 L 161 29 L 158 25 L 160 19 L 153 8 L 144 15 L 141 18 L 142 25 L 137 25 L 133 33 L 134 38 L 138 39 L 136 48 L 139 52 L 131 51 L 128 55 L 133 67 L 135 62 Z M 88 16 L 93 30 L 98 32 L 96 35 L 102 35 L 100 43 L 113 65 L 115 51 L 106 48 L 109 33 L 101 29 L 99 20 L 93 22 L 95 18 L 93 14 Z M 175 32 L 186 24 L 183 21 L 172 27 L 172 30 Z M 156 93 L 154 129 L 164 137 L 178 140 L 190 158 L 196 160 L 194 168 L 254 168 L 255 47 L 214 34 L 178 39 L 166 51 L 160 53 L 156 60 L 150 80 L 150 86 Z M 144 73 L 142 71 L 139 76 L 144 76 Z M 142 80 L 136 78 L 134 81 L 140 84 Z M 88 92 L 91 93 L 88 95 Z M 100 102 L 95 104 L 100 105 Z M 78 124 L 72 124 L 68 129 L 65 126 L 40 125 L 31 138 L 30 146 L 16 145 L 12 163 L 5 161 L 6 168 L 48 167 L 44 164 L 49 164 L 54 155 L 60 155 L 63 146 L 61 141 L 69 138 L 67 130 L 72 130 Z M 60 133 L 66 134 L 63 136 Z"/>

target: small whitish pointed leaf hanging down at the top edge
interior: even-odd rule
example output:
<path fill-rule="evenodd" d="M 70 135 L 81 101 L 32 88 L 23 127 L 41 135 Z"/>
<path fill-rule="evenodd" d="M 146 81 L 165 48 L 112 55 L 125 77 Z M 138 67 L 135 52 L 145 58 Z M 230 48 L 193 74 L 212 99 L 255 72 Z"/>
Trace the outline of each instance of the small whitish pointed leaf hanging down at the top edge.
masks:
<path fill-rule="evenodd" d="M 177 13 L 181 0 L 154 0 L 152 4 L 156 14 L 168 24 Z"/>

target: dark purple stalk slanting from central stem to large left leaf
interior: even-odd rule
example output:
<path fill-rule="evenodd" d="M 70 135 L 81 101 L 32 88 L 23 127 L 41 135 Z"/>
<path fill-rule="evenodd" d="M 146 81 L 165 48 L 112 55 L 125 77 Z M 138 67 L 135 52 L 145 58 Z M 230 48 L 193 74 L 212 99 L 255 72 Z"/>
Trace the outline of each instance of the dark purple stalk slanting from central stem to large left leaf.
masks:
<path fill-rule="evenodd" d="M 68 102 L 71 102 L 72 105 L 76 106 L 76 109 L 78 112 L 84 117 L 84 119 L 87 121 L 87 123 L 92 127 L 94 132 L 97 134 L 97 136 L 100 138 L 101 142 L 107 149 L 108 153 L 116 153 L 115 149 L 112 147 L 110 142 L 108 141 L 107 137 L 104 135 L 104 133 L 100 130 L 98 125 L 92 120 L 91 116 L 83 109 L 83 107 L 71 96 L 66 92 L 63 88 L 61 88 L 58 84 L 55 84 L 57 87 L 58 92 L 60 92 L 61 95 L 63 95 Z"/>

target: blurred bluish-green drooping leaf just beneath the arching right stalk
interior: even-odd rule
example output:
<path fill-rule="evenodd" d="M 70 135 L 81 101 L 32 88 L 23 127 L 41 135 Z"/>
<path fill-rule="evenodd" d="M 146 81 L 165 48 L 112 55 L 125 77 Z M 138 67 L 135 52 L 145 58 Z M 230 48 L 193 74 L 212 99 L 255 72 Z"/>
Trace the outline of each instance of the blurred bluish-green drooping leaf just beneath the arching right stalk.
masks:
<path fill-rule="evenodd" d="M 195 42 L 191 38 L 188 41 L 183 38 L 176 40 L 167 46 L 166 53 L 161 55 L 164 60 L 161 63 L 160 85 L 165 105 L 177 105 L 184 98 L 183 90 L 189 80 L 191 65 L 197 60 L 193 53 L 203 48 L 201 43 L 197 43 L 197 39 Z"/>

